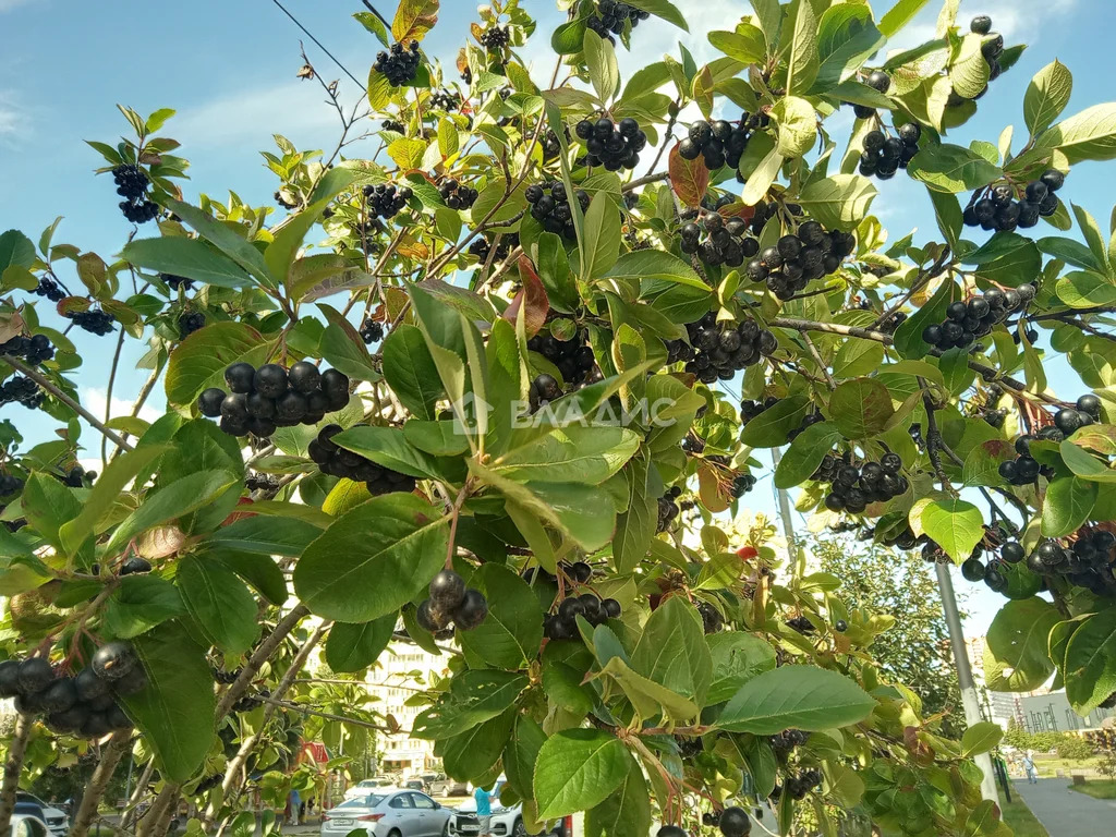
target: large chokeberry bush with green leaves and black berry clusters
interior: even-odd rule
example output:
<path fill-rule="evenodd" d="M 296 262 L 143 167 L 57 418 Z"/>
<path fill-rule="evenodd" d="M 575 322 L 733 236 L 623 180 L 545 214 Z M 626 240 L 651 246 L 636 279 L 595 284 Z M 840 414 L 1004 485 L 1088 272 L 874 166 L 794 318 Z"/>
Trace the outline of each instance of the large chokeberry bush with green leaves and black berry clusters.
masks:
<path fill-rule="evenodd" d="M 991 687 L 1110 703 L 1116 264 L 1074 193 L 1116 105 L 1065 116 L 1054 61 L 1023 129 L 962 144 L 1022 48 L 955 2 L 896 52 L 922 3 L 757 0 L 709 65 L 626 84 L 614 41 L 686 29 L 675 3 L 564 0 L 554 31 L 523 6 L 479 10 L 453 78 L 423 47 L 439 0 L 357 15 L 367 115 L 333 154 L 276 136 L 282 212 L 184 194 L 172 112 L 122 108 L 131 138 L 90 143 L 119 251 L 0 235 L 0 831 L 20 768 L 89 740 L 157 777 L 141 837 L 183 797 L 228 827 L 248 777 L 281 806 L 299 735 L 394 729 L 336 677 L 395 638 L 446 661 L 411 734 L 451 777 L 506 773 L 530 833 L 1007 834 L 972 760 L 995 731 L 959 740 L 882 674 L 891 623 L 839 561 L 730 538 L 764 480 L 1001 593 Z M 899 170 L 937 229 L 888 241 Z M 106 377 L 107 415 L 81 403 Z"/>

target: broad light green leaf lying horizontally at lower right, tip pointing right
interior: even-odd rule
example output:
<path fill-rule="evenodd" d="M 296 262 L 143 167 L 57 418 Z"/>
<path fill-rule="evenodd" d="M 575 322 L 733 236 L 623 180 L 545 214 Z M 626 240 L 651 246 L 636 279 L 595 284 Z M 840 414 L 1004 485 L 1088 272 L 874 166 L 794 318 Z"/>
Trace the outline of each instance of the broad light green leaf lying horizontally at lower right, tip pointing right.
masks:
<path fill-rule="evenodd" d="M 876 701 L 848 677 L 812 665 L 786 665 L 749 680 L 732 696 L 716 725 L 730 732 L 775 735 L 863 721 Z"/>

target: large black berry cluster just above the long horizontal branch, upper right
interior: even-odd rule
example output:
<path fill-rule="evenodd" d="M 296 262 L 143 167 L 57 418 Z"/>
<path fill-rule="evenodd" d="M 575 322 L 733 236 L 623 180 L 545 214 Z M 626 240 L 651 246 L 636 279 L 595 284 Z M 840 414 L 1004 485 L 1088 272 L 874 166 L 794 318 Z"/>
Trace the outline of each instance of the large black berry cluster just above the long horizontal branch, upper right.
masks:
<path fill-rule="evenodd" d="M 744 275 L 753 282 L 767 282 L 768 290 L 786 301 L 812 280 L 836 272 L 855 249 L 853 233 L 826 232 L 817 221 L 806 221 L 797 234 L 783 235 L 749 261 Z"/>

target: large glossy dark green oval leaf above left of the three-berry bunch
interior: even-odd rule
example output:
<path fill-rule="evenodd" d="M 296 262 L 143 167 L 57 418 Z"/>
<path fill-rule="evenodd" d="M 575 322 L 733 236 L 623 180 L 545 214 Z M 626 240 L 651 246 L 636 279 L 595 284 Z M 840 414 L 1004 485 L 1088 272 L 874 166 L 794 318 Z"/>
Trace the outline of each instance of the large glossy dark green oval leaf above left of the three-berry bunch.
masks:
<path fill-rule="evenodd" d="M 449 523 L 413 494 L 373 498 L 306 548 L 295 567 L 295 591 L 328 619 L 371 622 L 394 613 L 445 562 Z"/>

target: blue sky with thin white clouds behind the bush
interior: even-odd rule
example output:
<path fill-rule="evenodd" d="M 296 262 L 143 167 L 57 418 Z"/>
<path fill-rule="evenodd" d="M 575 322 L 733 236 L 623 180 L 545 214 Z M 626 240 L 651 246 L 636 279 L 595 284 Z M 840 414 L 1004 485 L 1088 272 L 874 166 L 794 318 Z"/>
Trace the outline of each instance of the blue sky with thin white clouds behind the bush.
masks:
<path fill-rule="evenodd" d="M 394 13 L 394 0 L 374 2 L 386 16 Z M 475 19 L 475 7 L 470 0 L 443 0 L 442 4 L 441 20 L 424 46 L 452 66 L 458 47 L 468 37 L 469 22 Z M 545 84 L 542 76 L 549 77 L 554 60 L 547 46 L 549 32 L 561 18 L 552 0 L 521 0 L 521 4 L 539 20 L 538 44 L 528 49 L 526 58 L 533 61 L 535 76 Z M 877 18 L 891 4 L 891 0 L 876 0 Z M 350 18 L 363 10 L 360 2 L 285 0 L 285 6 L 354 75 L 366 76 L 379 47 Z M 666 51 L 677 54 L 680 39 L 699 61 L 713 58 L 705 32 L 731 28 L 743 6 L 741 0 L 681 3 L 691 22 L 689 36 L 657 20 L 642 23 L 634 36 L 636 52 L 622 55 L 622 71 L 626 76 Z M 940 7 L 939 0 L 931 0 L 892 46 L 907 47 L 933 37 Z M 1067 113 L 1112 98 L 1116 61 L 1110 38 L 1116 9 L 1109 3 L 962 2 L 961 20 L 978 13 L 991 15 L 1009 44 L 1031 46 L 1019 64 L 993 84 L 978 116 L 950 135 L 951 142 L 995 142 L 1006 125 L 1014 124 L 1018 148 L 1026 133 L 1023 92 L 1031 76 L 1055 57 L 1074 73 Z M 114 142 L 124 132 L 127 126 L 116 103 L 143 114 L 160 107 L 179 112 L 163 133 L 179 140 L 179 153 L 192 161 L 192 180 L 184 184 L 187 200 L 201 192 L 223 200 L 232 189 L 250 203 L 273 205 L 275 180 L 259 155 L 260 150 L 273 147 L 271 135 L 283 134 L 302 148 L 331 147 L 336 142 L 337 115 L 324 104 L 320 88 L 295 77 L 304 36 L 270 0 L 193 0 L 173 6 L 141 0 L 0 0 L 0 31 L 4 33 L 0 52 L 0 231 L 15 227 L 37 240 L 44 228 L 64 215 L 56 241 L 106 258 L 118 251 L 131 227 L 116 209 L 118 198 L 110 179 L 93 175 L 99 157 L 83 142 Z M 356 86 L 312 44 L 307 41 L 306 47 L 321 75 L 340 79 L 346 100 L 355 102 L 359 93 Z M 450 78 L 455 79 L 456 73 Z M 840 137 L 841 132 L 836 126 L 834 129 Z M 1106 228 L 1116 180 L 1103 172 L 1110 169 L 1078 166 L 1062 196 L 1086 206 Z M 916 233 L 916 241 L 939 238 L 925 191 L 906 177 L 882 183 L 873 211 L 894 238 L 914 228 L 924 233 Z M 141 234 L 151 234 L 151 230 Z M 100 359 L 107 363 L 115 345 L 110 337 L 79 336 L 78 343 L 89 369 L 98 368 Z M 102 379 L 99 375 L 89 377 L 97 381 L 83 381 L 83 400 L 100 412 L 104 391 L 96 386 L 103 385 Z M 122 369 L 117 387 L 122 410 L 144 378 L 143 373 Z M 761 480 L 748 500 L 773 514 L 770 479 Z M 797 522 L 805 526 L 802 520 Z M 983 633 L 1002 599 L 960 577 L 958 586 L 974 591 L 969 602 L 973 610 L 969 632 Z"/>

